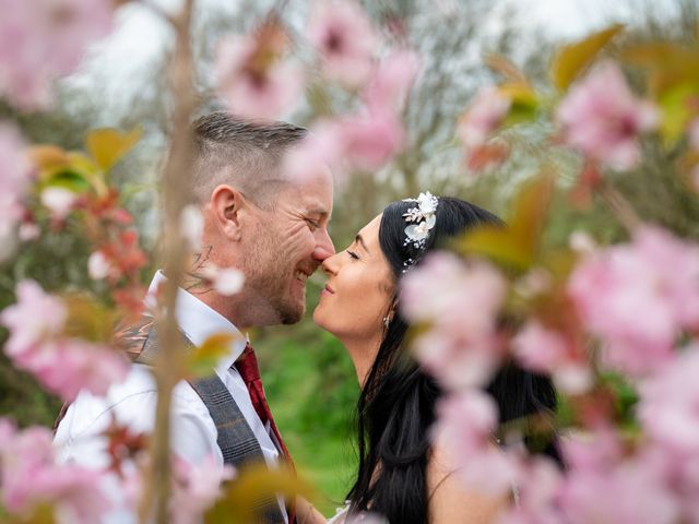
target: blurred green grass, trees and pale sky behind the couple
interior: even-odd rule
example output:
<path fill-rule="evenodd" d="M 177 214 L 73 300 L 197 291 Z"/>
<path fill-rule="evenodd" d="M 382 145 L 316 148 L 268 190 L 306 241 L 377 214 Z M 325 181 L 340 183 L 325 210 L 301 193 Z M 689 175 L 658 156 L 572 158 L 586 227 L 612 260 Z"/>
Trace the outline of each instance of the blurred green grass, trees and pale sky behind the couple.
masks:
<path fill-rule="evenodd" d="M 164 9 L 177 8 L 175 0 L 157 3 Z M 543 85 L 552 52 L 561 43 L 615 22 L 627 25 L 627 38 L 690 41 L 696 39 L 699 23 L 699 0 L 362 3 L 377 22 L 390 27 L 388 38 L 406 41 L 422 55 L 423 63 L 405 108 L 408 142 L 404 153 L 379 172 L 339 180 L 330 226 L 337 249 L 343 249 L 388 202 L 422 190 L 464 198 L 507 218 L 511 196 L 522 181 L 538 171 L 542 163 L 561 174 L 560 183 L 572 183 L 579 170 L 577 160 L 562 154 L 552 158 L 550 150 L 544 160 L 542 141 L 547 130 L 535 126 L 529 127 L 526 133 L 512 131 L 510 139 L 519 146 L 506 164 L 478 176 L 465 168 L 454 127 L 475 91 L 493 80 L 488 57 L 507 57 Z M 200 112 L 222 107 L 214 97 L 212 76 L 216 44 L 223 35 L 248 32 L 271 9 L 276 9 L 292 29 L 294 52 L 299 60 L 307 60 L 304 25 L 309 8 L 306 0 L 200 0 L 194 29 Z M 138 3 L 120 10 L 118 24 L 106 41 L 92 49 L 81 71 L 59 83 L 55 110 L 16 115 L 0 103 L 0 117 L 17 121 L 34 143 L 66 148 L 81 148 L 86 132 L 94 128 L 143 129 L 142 142 L 115 169 L 114 177 L 153 255 L 153 263 L 142 275 L 147 282 L 156 265 L 159 202 L 155 188 L 169 131 L 169 100 L 164 93 L 173 35 L 163 21 Z M 352 104 L 346 93 L 320 81 L 311 82 L 306 97 L 284 119 L 305 124 L 318 115 L 346 109 Z M 648 151 L 647 158 L 651 162 L 638 172 L 611 182 L 619 186 L 649 222 L 699 239 L 699 207 L 672 172 L 673 158 L 660 148 Z M 547 235 L 552 243 L 567 243 L 579 229 L 594 230 L 605 242 L 624 236 L 606 207 L 600 205 L 583 214 L 562 196 L 554 203 L 550 224 Z M 67 286 L 95 289 L 98 284 L 84 272 L 87 255 L 86 246 L 69 233 L 44 236 L 24 248 L 12 265 L 1 267 L 0 309 L 10 303 L 15 283 L 26 275 L 48 290 Z M 309 281 L 309 312 L 322 285 L 321 274 Z M 4 341 L 7 333 L 0 332 L 0 337 Z M 297 466 L 318 486 L 321 509 L 331 512 L 344 500 L 355 464 L 352 418 L 358 385 L 352 364 L 342 346 L 312 324 L 310 314 L 297 325 L 262 329 L 251 337 L 277 425 Z M 29 376 L 0 356 L 1 415 L 13 416 L 21 426 L 50 426 L 59 407 L 59 402 L 43 392 Z"/>

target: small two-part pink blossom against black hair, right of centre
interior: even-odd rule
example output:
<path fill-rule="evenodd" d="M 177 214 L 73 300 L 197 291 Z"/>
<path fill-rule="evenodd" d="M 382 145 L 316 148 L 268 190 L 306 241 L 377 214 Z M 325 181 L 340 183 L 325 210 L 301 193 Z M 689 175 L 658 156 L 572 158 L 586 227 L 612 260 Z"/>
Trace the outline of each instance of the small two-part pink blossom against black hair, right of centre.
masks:
<path fill-rule="evenodd" d="M 512 349 L 525 368 L 553 376 L 556 385 L 568 393 L 583 393 L 592 386 L 588 362 L 577 356 L 565 336 L 536 320 L 530 320 L 517 334 Z"/>

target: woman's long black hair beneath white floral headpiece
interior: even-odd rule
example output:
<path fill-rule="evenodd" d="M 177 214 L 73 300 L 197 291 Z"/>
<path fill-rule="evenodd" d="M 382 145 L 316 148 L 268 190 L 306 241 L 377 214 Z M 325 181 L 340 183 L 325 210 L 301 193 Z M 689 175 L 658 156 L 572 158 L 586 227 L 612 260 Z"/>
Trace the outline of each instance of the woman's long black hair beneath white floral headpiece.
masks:
<path fill-rule="evenodd" d="M 403 214 L 414 206 L 412 202 L 393 202 L 381 217 L 379 242 L 396 283 L 407 259 L 419 265 L 426 252 L 454 236 L 478 225 L 502 224 L 497 216 L 469 202 L 440 198 L 435 227 L 425 249 L 419 250 L 404 246 L 407 224 Z M 359 471 L 348 493 L 350 511 L 372 511 L 391 524 L 426 524 L 429 428 L 442 391 L 404 347 L 407 327 L 399 305 L 362 386 L 356 415 Z M 547 378 L 513 365 L 496 374 L 488 392 L 499 407 L 500 421 L 554 409 L 556 405 Z M 555 454 L 555 450 L 548 451 Z"/>

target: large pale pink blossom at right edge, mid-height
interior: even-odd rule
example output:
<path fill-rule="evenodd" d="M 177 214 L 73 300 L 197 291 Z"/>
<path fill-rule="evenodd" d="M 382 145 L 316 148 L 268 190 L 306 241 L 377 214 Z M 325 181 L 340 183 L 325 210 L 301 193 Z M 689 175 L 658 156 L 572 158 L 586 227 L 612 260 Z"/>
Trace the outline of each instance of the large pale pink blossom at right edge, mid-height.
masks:
<path fill-rule="evenodd" d="M 680 330 L 699 325 L 699 247 L 643 227 L 631 243 L 583 258 L 568 291 L 604 341 L 603 364 L 644 376 L 673 358 Z"/>

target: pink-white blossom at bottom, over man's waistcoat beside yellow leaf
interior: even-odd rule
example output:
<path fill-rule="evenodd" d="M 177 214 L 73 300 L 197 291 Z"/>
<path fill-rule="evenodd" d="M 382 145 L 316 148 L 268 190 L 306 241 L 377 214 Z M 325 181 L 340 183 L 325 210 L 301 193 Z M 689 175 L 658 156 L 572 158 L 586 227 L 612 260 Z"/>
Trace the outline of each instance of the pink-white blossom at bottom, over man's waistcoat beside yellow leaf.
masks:
<path fill-rule="evenodd" d="M 221 466 L 206 456 L 199 465 L 174 456 L 173 498 L 170 514 L 174 524 L 196 524 L 203 513 L 223 495 L 222 484 L 235 476 L 232 466 Z"/>

